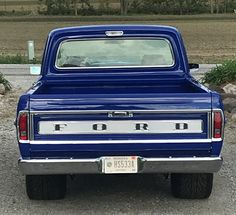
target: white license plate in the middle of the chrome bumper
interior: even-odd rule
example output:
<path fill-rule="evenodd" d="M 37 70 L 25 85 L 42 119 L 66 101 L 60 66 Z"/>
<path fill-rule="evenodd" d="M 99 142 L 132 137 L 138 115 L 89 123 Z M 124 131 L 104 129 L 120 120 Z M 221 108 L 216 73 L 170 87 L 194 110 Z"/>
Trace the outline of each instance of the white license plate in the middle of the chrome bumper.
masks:
<path fill-rule="evenodd" d="M 104 157 L 102 159 L 102 166 L 105 174 L 137 173 L 138 157 Z"/>

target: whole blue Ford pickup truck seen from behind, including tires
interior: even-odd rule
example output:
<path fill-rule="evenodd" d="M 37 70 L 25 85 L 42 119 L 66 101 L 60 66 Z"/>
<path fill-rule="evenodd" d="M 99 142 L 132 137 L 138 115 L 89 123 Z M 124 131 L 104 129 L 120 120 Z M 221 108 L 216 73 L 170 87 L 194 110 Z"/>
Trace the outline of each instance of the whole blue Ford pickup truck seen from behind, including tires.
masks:
<path fill-rule="evenodd" d="M 177 198 L 208 198 L 224 114 L 220 95 L 190 75 L 196 67 L 173 27 L 53 30 L 17 108 L 29 198 L 63 198 L 67 175 L 142 173 L 170 175 Z"/>

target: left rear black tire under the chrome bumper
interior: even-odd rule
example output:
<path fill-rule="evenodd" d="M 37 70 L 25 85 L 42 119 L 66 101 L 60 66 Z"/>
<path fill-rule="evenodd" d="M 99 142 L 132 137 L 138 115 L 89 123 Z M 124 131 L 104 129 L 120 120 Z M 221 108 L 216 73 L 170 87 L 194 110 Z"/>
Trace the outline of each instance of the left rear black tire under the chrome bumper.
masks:
<path fill-rule="evenodd" d="M 27 175 L 26 192 L 32 200 L 63 199 L 66 195 L 66 175 Z"/>

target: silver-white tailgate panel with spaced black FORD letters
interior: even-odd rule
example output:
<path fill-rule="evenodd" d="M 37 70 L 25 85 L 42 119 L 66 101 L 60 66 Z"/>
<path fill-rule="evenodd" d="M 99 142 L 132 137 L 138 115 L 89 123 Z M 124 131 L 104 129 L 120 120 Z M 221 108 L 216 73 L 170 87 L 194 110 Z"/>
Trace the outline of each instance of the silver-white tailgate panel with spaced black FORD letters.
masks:
<path fill-rule="evenodd" d="M 39 134 L 202 133 L 202 120 L 40 121 Z"/>

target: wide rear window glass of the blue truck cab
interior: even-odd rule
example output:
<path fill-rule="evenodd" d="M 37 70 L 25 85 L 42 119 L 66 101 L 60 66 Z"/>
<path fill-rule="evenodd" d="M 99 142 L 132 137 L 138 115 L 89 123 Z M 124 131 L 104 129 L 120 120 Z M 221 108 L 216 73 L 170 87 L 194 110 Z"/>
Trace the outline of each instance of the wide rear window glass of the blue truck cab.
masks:
<path fill-rule="evenodd" d="M 59 45 L 57 69 L 172 67 L 173 48 L 165 38 L 66 40 Z"/>

